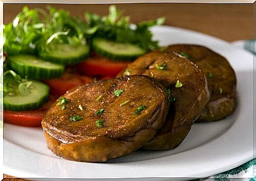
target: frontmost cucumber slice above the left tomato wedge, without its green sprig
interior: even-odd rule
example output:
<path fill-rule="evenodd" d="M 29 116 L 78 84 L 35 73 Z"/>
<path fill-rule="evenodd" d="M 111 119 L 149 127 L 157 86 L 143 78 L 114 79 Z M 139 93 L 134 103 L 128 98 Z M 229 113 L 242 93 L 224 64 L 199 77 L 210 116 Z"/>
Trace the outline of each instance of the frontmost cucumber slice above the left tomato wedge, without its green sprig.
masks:
<path fill-rule="evenodd" d="M 18 90 L 15 93 L 4 95 L 4 109 L 12 111 L 25 111 L 39 109 L 48 101 L 50 88 L 48 85 L 32 81 L 28 88 L 30 93 L 22 96 Z"/>

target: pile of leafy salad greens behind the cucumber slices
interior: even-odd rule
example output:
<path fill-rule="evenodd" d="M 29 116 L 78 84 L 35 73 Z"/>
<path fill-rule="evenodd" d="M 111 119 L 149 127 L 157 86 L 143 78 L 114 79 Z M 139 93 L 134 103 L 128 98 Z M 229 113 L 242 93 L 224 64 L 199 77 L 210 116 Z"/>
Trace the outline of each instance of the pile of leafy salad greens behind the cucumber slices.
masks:
<path fill-rule="evenodd" d="M 145 50 L 154 50 L 158 42 L 152 40 L 149 27 L 163 24 L 164 17 L 131 25 L 129 16 L 121 16 L 115 6 L 109 7 L 107 16 L 87 12 L 86 20 L 73 17 L 68 11 L 48 7 L 24 6 L 14 21 L 4 25 L 4 51 L 8 54 L 37 54 L 38 51 L 54 49 L 54 44 L 90 44 L 95 36 L 137 44 Z"/>

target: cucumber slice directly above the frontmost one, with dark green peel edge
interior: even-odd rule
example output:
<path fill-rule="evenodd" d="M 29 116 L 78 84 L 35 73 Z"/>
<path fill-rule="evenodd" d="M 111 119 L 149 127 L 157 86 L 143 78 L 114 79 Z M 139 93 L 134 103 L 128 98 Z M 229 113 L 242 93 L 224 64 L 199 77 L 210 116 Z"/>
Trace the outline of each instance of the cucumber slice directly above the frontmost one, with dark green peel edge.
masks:
<path fill-rule="evenodd" d="M 8 56 L 11 68 L 29 79 L 52 79 L 60 77 L 64 71 L 64 65 L 44 61 L 33 55 Z"/>

